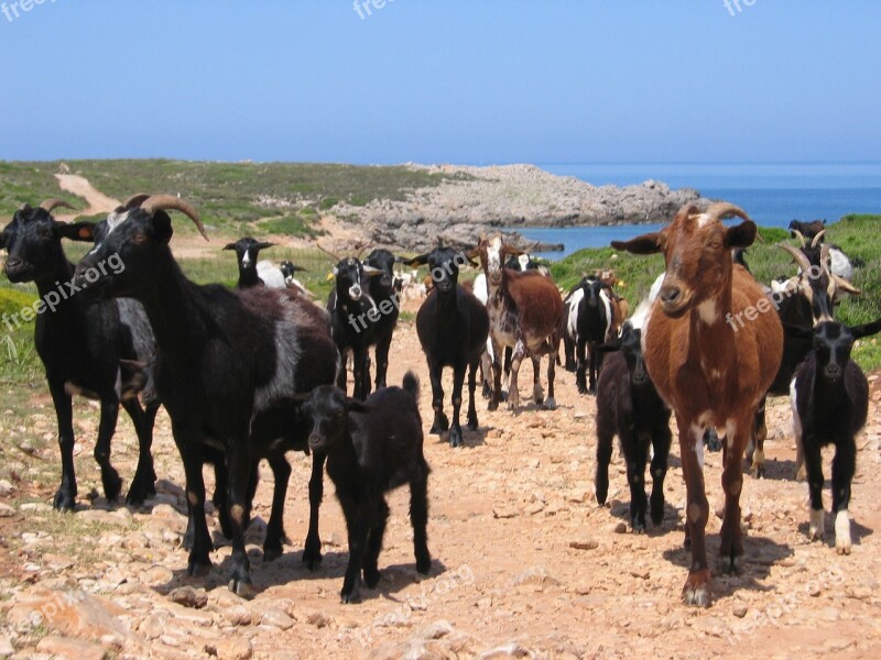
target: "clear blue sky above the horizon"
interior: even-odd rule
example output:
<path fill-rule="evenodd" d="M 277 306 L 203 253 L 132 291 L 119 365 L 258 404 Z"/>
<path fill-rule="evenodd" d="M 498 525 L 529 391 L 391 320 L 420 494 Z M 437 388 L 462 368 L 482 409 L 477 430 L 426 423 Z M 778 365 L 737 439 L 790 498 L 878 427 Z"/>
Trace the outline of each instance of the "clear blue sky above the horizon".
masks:
<path fill-rule="evenodd" d="M 729 1 L 6 0 L 0 158 L 881 161 L 881 2 Z"/>

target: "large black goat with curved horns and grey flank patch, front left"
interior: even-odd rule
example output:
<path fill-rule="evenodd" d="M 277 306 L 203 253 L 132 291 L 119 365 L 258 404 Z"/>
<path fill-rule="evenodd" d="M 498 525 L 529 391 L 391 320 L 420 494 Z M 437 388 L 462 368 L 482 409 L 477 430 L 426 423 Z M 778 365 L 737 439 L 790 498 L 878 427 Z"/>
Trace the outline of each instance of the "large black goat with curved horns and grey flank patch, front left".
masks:
<path fill-rule="evenodd" d="M 95 297 L 128 296 L 141 301 L 156 338 L 156 394 L 172 419 L 174 441 L 184 462 L 193 546 L 187 573 L 211 568 L 211 543 L 205 521 L 205 448 L 226 455 L 227 506 L 232 557 L 229 587 L 253 592 L 244 551 L 244 514 L 252 465 L 267 458 L 275 472 L 272 514 L 263 543 L 264 560 L 282 552 L 285 490 L 291 468 L 286 450 L 308 449 L 308 426 L 270 400 L 309 392 L 334 382 L 337 352 L 327 317 L 318 307 L 284 289 L 254 287 L 231 292 L 199 286 L 181 272 L 168 243 L 172 220 L 166 210 L 186 215 L 206 237 L 196 211 L 171 195 L 139 196 L 117 209 L 96 229 L 96 246 L 77 265 L 75 280 L 117 255 L 126 268 L 90 285 Z M 206 237 L 207 239 L 207 237 Z M 309 480 L 309 531 L 303 560 L 320 561 L 318 506 L 324 455 L 313 457 Z"/>

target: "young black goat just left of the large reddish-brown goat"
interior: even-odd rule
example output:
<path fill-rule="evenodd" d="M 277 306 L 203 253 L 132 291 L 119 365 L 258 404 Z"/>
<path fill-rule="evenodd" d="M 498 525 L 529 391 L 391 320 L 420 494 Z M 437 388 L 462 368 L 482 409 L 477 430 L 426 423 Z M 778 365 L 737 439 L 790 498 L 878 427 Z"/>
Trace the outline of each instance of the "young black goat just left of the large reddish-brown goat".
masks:
<path fill-rule="evenodd" d="M 664 476 L 672 440 L 670 409 L 645 371 L 641 334 L 640 329 L 624 323 L 623 333 L 614 344 L 598 348 L 600 351 L 620 350 L 606 359 L 597 389 L 597 503 L 606 504 L 612 438 L 618 436 L 627 463 L 630 522 L 634 534 L 645 530 L 648 503 L 643 483 L 649 447 L 652 448 L 652 522 L 657 526 L 664 519 Z"/>

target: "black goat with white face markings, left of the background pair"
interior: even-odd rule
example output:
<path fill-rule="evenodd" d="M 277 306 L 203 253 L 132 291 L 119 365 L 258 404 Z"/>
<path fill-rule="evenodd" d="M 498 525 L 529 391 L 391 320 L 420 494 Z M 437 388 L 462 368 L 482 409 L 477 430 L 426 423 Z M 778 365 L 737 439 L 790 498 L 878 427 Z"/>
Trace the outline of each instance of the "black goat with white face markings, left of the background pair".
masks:
<path fill-rule="evenodd" d="M 370 355 L 376 343 L 380 309 L 369 293 L 368 278 L 382 272 L 367 266 L 358 257 L 340 260 L 334 266 L 336 285 L 327 298 L 330 329 L 342 361 L 337 387 L 346 392 L 346 358 L 351 351 L 355 389 L 352 396 L 366 399 L 370 394 Z"/>

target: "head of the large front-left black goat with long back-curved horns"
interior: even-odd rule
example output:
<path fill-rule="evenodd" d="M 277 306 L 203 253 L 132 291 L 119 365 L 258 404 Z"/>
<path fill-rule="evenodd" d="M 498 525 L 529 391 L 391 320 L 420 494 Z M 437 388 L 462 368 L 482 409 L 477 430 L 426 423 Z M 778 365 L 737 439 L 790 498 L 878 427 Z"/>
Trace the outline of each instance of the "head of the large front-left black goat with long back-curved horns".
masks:
<path fill-rule="evenodd" d="M 205 240 L 205 227 L 188 204 L 172 195 L 135 195 L 95 227 L 95 248 L 77 264 L 76 283 L 94 296 L 131 296 L 156 286 L 171 257 L 172 219 L 168 210 L 187 216 Z M 111 273 L 101 264 L 121 265 Z M 97 278 L 90 275 L 98 273 Z"/>

